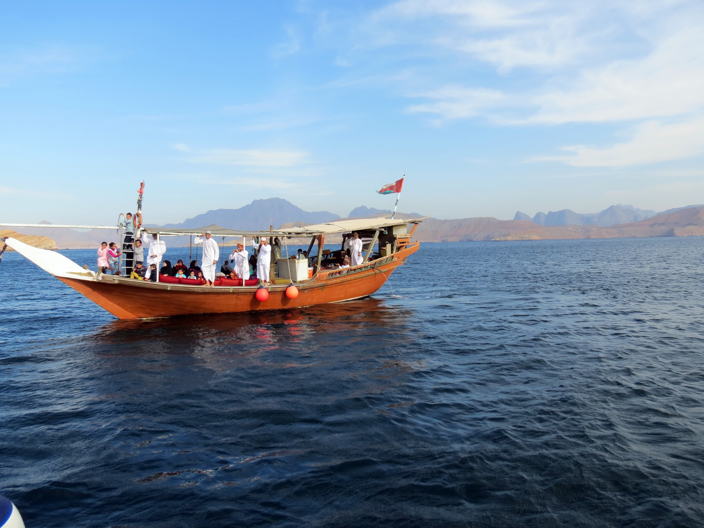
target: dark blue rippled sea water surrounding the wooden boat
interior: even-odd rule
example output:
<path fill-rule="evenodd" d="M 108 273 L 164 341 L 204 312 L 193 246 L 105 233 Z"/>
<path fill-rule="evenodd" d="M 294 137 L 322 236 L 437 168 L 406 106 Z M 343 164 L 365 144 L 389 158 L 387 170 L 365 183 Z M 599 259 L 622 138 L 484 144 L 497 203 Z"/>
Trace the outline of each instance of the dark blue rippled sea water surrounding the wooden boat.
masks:
<path fill-rule="evenodd" d="M 425 244 L 373 298 L 150 322 L 6 254 L 0 493 L 28 528 L 703 526 L 703 254 Z"/>

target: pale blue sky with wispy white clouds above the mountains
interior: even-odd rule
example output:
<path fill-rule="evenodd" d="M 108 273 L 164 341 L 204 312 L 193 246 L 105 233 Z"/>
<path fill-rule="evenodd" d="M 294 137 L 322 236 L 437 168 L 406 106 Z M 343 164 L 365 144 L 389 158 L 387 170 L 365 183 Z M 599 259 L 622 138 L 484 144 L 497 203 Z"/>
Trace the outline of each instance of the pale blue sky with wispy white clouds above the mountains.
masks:
<path fill-rule="evenodd" d="M 346 6 L 346 4 L 349 4 Z M 436 218 L 704 203 L 701 1 L 11 2 L 0 221 L 279 196 L 346 215 L 406 172 Z"/>

